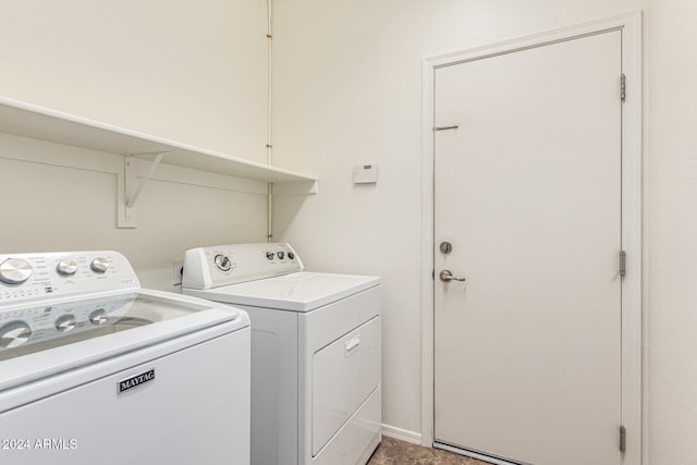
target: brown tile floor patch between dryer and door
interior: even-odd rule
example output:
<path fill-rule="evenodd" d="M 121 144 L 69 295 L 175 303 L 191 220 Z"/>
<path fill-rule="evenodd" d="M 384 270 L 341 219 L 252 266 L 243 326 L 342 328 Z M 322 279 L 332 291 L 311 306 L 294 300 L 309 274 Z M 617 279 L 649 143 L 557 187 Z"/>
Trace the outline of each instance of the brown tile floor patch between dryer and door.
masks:
<path fill-rule="evenodd" d="M 382 437 L 382 442 L 367 465 L 489 465 L 438 449 Z"/>

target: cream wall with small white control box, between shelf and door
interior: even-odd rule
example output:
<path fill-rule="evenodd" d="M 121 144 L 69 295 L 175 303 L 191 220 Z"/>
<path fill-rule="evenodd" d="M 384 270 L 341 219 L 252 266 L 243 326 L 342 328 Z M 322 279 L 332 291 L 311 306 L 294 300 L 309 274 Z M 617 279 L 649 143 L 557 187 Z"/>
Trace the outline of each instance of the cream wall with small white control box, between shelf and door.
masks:
<path fill-rule="evenodd" d="M 421 60 L 647 7 L 277 0 L 274 160 L 316 172 L 320 193 L 278 200 L 276 233 L 311 268 L 383 277 L 383 421 L 395 431 L 421 431 Z M 376 186 L 352 184 L 364 163 L 379 166 Z"/>

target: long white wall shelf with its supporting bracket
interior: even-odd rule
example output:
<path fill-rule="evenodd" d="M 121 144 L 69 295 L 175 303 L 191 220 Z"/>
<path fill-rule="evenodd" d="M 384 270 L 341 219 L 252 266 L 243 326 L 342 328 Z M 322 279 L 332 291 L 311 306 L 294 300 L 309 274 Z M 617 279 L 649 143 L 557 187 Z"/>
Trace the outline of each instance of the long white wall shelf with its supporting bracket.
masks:
<path fill-rule="evenodd" d="M 273 192 L 277 195 L 317 193 L 317 179 L 314 176 L 5 97 L 0 97 L 0 132 L 121 155 L 124 160 L 132 158 L 151 160 L 152 170 L 161 162 L 162 164 L 274 184 Z M 160 156 L 162 154 L 163 156 Z M 151 172 L 149 174 L 151 175 Z M 134 207 L 142 183 L 147 182 L 148 179 L 149 175 L 136 184 L 136 192 L 123 188 L 123 193 L 120 193 L 119 227 L 134 228 L 136 225 L 135 218 L 129 210 Z"/>

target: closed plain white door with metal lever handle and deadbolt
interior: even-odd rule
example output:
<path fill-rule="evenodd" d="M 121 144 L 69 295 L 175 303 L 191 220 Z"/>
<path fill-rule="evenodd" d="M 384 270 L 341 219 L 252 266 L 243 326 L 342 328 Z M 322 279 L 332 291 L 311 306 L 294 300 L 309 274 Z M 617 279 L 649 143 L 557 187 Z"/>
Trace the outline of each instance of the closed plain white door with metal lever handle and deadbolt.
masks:
<path fill-rule="evenodd" d="M 436 71 L 436 126 L 458 126 L 435 134 L 437 443 L 621 463 L 621 46 Z"/>

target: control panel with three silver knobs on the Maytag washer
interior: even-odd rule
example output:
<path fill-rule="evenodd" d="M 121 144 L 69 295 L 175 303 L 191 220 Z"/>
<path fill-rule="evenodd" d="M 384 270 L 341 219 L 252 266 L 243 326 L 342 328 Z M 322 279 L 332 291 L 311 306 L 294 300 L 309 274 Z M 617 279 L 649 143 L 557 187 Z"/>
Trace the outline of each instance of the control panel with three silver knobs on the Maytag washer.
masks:
<path fill-rule="evenodd" d="M 3 306 L 45 297 L 139 285 L 131 264 L 118 252 L 0 254 L 0 311 Z M 62 322 L 62 328 L 70 327 L 70 321 Z M 23 334 L 19 328 L 11 332 Z"/>

